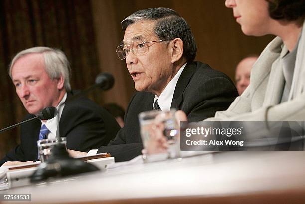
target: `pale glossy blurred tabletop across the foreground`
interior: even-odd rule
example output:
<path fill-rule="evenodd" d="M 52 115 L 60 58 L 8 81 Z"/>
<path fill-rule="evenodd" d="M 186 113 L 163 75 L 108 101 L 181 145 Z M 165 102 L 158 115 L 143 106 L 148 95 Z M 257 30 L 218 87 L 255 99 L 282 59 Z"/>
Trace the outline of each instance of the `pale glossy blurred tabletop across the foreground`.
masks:
<path fill-rule="evenodd" d="M 122 165 L 79 178 L 18 187 L 0 193 L 31 193 L 34 203 L 241 201 L 236 199 L 264 203 L 275 201 L 275 198 L 277 203 L 286 203 L 287 200 L 305 203 L 305 152 L 215 152 Z M 213 200 L 215 198 L 218 200 Z"/>

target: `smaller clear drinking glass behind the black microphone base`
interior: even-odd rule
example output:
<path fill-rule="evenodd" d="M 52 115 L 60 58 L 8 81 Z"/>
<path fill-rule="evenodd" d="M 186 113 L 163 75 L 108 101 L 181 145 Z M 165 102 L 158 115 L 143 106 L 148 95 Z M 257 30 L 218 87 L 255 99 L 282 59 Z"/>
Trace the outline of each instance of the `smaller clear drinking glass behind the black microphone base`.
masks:
<path fill-rule="evenodd" d="M 67 149 L 67 138 L 66 137 L 60 137 L 55 139 L 41 139 L 37 141 L 38 146 L 38 152 L 40 161 L 44 162 L 49 159 L 51 153 L 52 153 L 52 146 L 55 144 L 65 144 Z"/>

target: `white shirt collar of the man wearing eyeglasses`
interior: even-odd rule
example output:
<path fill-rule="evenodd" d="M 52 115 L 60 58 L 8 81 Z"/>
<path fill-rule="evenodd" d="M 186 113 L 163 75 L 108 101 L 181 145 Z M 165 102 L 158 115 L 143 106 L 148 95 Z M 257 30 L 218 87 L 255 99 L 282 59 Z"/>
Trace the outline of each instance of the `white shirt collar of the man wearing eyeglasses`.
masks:
<path fill-rule="evenodd" d="M 176 88 L 176 84 L 178 82 L 178 79 L 180 78 L 180 75 L 182 71 L 184 70 L 185 66 L 187 63 L 185 63 L 177 72 L 177 74 L 170 80 L 170 82 L 166 85 L 165 89 L 163 92 L 160 94 L 160 96 L 155 95 L 154 97 L 154 102 L 155 100 L 158 100 L 158 104 L 163 111 L 169 111 L 173 94 Z M 154 104 L 153 102 L 153 104 Z"/>

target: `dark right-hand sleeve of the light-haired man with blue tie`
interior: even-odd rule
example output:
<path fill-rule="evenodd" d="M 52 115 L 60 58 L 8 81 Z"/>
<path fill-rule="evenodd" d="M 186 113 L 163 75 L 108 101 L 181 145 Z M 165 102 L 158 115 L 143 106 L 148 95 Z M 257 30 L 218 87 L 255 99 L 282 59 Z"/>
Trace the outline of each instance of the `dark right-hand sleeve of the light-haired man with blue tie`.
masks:
<path fill-rule="evenodd" d="M 60 119 L 60 134 L 67 137 L 67 148 L 77 151 L 107 145 L 119 129 L 109 112 L 86 98 L 67 103 Z"/>

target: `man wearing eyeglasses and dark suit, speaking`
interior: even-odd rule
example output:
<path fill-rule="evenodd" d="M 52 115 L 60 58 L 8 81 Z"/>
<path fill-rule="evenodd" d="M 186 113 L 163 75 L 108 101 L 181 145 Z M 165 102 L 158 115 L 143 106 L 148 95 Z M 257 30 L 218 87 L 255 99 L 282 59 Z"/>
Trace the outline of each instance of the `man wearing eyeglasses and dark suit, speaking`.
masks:
<path fill-rule="evenodd" d="M 111 153 L 116 161 L 130 160 L 143 149 L 140 112 L 169 111 L 172 107 L 183 110 L 189 121 L 201 121 L 227 109 L 238 96 L 229 77 L 207 64 L 193 62 L 196 43 L 190 27 L 176 11 L 140 10 L 123 20 L 122 28 L 125 34 L 117 54 L 125 59 L 138 92 L 129 103 L 125 126 L 116 138 L 91 152 Z"/>

